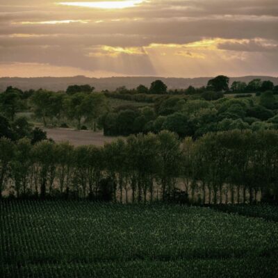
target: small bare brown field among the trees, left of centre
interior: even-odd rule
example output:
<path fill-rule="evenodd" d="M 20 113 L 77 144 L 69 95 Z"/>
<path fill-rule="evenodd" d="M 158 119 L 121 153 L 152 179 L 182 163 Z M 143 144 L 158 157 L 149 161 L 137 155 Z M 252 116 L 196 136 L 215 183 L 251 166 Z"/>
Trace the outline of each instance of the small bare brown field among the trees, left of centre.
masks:
<path fill-rule="evenodd" d="M 104 136 L 102 132 L 77 131 L 75 129 L 44 129 L 47 138 L 55 142 L 69 141 L 74 146 L 95 145 L 101 147 L 105 142 L 117 140 L 117 137 Z"/>

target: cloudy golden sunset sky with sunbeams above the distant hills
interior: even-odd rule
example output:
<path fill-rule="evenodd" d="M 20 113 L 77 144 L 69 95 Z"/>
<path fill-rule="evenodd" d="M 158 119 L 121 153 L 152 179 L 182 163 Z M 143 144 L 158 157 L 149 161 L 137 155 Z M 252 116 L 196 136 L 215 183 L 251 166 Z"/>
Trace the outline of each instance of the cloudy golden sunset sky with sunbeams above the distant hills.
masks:
<path fill-rule="evenodd" d="M 278 76 L 278 0 L 0 0 L 0 76 Z"/>

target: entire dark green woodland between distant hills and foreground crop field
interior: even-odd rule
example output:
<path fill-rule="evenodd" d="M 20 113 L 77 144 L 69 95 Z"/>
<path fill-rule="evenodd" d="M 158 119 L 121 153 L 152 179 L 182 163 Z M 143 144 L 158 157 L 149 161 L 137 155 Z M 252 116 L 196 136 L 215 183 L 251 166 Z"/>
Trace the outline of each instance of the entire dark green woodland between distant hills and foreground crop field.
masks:
<path fill-rule="evenodd" d="M 8 87 L 0 94 L 1 196 L 277 202 L 278 102 L 270 81 L 234 82 L 229 88 L 229 78 L 217 76 L 206 88 L 176 92 L 162 81 L 135 90 L 94 90 Z M 108 99 L 119 96 L 134 103 L 149 99 L 142 107 L 111 106 Z M 19 116 L 24 111 L 44 126 L 133 135 L 105 147 L 58 144 Z"/>

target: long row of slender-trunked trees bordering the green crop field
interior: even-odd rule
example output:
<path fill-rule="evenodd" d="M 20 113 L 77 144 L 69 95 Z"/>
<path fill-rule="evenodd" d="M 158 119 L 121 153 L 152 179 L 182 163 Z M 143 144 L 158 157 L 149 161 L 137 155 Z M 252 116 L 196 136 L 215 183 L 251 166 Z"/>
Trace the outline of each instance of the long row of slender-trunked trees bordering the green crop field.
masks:
<path fill-rule="evenodd" d="M 255 202 L 278 194 L 278 132 L 161 131 L 104 147 L 0 139 L 0 190 L 16 197 L 90 197 L 120 202 Z M 179 181 L 183 181 L 178 187 Z M 8 190 L 8 191 L 7 191 Z M 179 190 L 183 190 L 181 195 Z M 178 194 L 179 193 L 179 194 Z M 183 199 L 184 201 L 184 199 Z"/>

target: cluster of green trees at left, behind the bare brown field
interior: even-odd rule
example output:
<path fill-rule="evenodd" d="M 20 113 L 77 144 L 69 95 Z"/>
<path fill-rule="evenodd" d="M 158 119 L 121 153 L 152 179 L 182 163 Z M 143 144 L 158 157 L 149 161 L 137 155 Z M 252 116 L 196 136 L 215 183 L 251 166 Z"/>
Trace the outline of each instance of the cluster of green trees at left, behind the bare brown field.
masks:
<path fill-rule="evenodd" d="M 8 87 L 0 94 L 0 113 L 13 121 L 15 115 L 24 110 L 33 111 L 35 117 L 42 120 L 44 126 L 56 123 L 65 126 L 66 121 L 73 121 L 77 129 L 82 124 L 91 124 L 96 128 L 97 117 L 108 109 L 103 94 L 91 93 L 89 85 L 72 85 L 67 92 L 47 90 L 22 92 Z"/>

